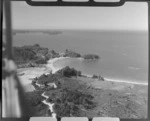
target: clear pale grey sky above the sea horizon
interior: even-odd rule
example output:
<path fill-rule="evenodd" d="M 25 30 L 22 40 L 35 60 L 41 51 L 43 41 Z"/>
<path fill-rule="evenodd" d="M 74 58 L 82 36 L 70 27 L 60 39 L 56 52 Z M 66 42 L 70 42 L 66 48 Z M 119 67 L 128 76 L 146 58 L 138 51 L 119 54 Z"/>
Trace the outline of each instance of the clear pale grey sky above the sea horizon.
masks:
<path fill-rule="evenodd" d="M 120 7 L 37 7 L 12 2 L 13 29 L 148 30 L 148 5 Z"/>

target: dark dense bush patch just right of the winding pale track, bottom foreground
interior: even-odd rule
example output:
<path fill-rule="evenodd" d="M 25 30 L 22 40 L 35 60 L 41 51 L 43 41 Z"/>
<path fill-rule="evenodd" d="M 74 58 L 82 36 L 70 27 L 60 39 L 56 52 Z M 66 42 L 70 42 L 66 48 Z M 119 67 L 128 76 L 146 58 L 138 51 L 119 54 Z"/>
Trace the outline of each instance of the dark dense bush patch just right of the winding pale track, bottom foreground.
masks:
<path fill-rule="evenodd" d="M 63 89 L 61 97 L 55 100 L 54 110 L 58 117 L 80 116 L 79 112 L 93 109 L 96 104 L 92 101 L 93 97 L 78 90 Z"/>

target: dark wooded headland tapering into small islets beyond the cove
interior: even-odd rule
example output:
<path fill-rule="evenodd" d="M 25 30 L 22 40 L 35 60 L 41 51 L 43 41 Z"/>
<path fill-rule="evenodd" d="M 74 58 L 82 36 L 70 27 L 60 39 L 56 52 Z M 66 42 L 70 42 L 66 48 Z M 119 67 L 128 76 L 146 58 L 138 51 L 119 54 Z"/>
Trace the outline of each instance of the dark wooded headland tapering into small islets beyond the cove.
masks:
<path fill-rule="evenodd" d="M 77 52 L 67 50 L 63 53 L 57 53 L 54 50 L 41 47 L 39 44 L 26 45 L 22 47 L 13 47 L 13 57 L 20 67 L 35 67 L 40 64 L 46 64 L 50 58 L 55 57 L 71 57 L 71 58 L 83 58 L 85 60 L 98 60 L 99 56 L 95 54 L 81 55 Z"/>

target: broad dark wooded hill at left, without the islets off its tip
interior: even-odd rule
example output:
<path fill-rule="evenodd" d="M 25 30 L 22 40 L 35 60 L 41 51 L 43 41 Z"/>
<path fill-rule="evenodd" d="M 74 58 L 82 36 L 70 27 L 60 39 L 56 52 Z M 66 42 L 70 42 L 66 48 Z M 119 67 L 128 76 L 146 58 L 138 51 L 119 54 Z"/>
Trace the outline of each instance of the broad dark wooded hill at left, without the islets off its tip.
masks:
<path fill-rule="evenodd" d="M 37 66 L 45 64 L 50 58 L 59 56 L 54 50 L 40 47 L 40 45 L 28 45 L 23 47 L 13 47 L 13 57 L 19 67 Z"/>

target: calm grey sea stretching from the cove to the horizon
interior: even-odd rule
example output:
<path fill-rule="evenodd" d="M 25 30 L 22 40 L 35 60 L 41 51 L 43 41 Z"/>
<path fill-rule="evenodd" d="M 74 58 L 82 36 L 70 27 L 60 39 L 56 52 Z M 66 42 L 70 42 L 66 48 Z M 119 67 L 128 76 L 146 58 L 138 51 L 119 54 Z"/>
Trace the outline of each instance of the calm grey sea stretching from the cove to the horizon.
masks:
<path fill-rule="evenodd" d="M 82 73 L 106 78 L 148 82 L 148 33 L 126 31 L 62 31 L 59 34 L 22 33 L 13 35 L 13 45 L 38 43 L 56 52 L 66 49 L 81 54 L 97 54 L 97 61 L 63 59 L 56 68 L 70 66 Z"/>

